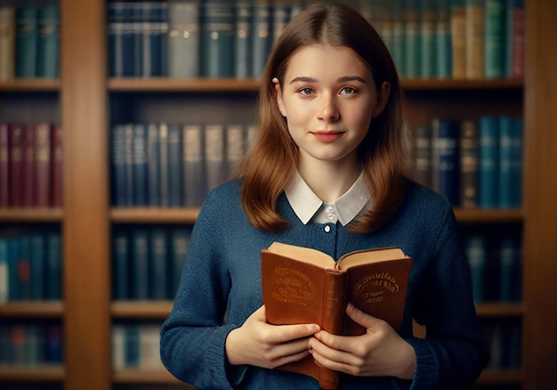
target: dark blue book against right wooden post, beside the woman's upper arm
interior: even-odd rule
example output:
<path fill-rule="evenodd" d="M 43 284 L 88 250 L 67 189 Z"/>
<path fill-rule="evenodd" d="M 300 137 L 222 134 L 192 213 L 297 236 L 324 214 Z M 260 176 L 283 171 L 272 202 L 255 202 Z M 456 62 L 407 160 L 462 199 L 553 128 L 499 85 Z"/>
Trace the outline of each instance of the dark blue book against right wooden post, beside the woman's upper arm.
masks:
<path fill-rule="evenodd" d="M 499 300 L 521 300 L 521 243 L 518 238 L 504 237 L 499 248 Z"/>

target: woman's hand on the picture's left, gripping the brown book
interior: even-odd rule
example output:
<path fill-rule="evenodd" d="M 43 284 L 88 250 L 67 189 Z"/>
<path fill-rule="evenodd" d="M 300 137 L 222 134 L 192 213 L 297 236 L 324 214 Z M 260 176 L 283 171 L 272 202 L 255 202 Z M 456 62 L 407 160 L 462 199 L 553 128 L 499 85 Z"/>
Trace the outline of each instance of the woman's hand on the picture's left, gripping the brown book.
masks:
<path fill-rule="evenodd" d="M 309 355 L 308 339 L 319 331 L 315 324 L 270 325 L 261 306 L 244 325 L 230 331 L 226 355 L 230 364 L 274 369 Z"/>

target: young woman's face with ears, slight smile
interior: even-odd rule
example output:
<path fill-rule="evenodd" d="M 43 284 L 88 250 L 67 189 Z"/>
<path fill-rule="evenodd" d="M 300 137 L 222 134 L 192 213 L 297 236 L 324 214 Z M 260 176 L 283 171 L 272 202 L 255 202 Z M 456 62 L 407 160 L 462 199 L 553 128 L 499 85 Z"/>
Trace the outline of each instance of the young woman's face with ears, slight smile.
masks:
<path fill-rule="evenodd" d="M 300 148 L 300 161 L 356 163 L 359 143 L 389 93 L 379 93 L 366 64 L 350 48 L 310 45 L 290 59 L 285 79 L 273 83 L 278 109 Z"/>

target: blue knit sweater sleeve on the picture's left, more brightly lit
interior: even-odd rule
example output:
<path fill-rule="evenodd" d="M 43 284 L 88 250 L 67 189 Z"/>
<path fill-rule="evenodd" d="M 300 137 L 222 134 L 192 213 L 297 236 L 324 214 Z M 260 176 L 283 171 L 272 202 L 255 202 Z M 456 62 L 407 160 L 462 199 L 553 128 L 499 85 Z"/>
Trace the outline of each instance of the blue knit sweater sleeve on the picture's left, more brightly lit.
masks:
<path fill-rule="evenodd" d="M 191 235 L 173 309 L 161 328 L 160 353 L 166 369 L 196 388 L 232 388 L 227 378 L 224 316 L 230 275 L 222 256 L 214 210 L 206 199 Z"/>

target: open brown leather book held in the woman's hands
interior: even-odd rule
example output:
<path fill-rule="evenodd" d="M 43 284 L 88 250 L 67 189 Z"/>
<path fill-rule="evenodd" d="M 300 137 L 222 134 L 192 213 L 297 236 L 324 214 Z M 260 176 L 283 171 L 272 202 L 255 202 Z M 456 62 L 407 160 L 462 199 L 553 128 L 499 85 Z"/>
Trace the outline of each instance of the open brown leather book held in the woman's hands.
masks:
<path fill-rule="evenodd" d="M 261 251 L 262 298 L 267 321 L 275 325 L 317 323 L 335 335 L 362 335 L 366 329 L 345 314 L 350 302 L 399 329 L 412 257 L 400 248 L 371 248 L 338 261 L 313 248 L 273 242 Z M 281 370 L 309 375 L 324 389 L 336 388 L 338 372 L 307 356 Z"/>

